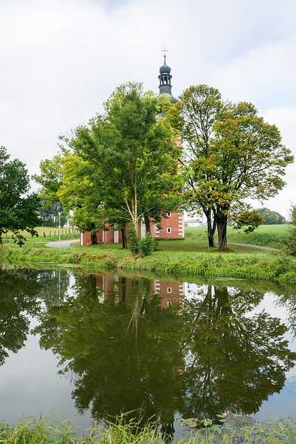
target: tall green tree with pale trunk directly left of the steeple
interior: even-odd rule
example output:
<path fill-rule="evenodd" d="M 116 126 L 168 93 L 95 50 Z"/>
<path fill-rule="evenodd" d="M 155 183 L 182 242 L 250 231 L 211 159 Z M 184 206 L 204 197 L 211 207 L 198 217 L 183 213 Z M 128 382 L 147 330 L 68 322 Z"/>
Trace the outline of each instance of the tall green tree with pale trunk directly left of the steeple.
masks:
<path fill-rule="evenodd" d="M 167 211 L 172 195 L 175 206 L 181 181 L 176 160 L 180 149 L 172 129 L 156 119 L 161 105 L 162 99 L 143 92 L 142 85 L 126 83 L 104 103 L 104 114 L 76 128 L 73 137 L 62 137 L 83 162 L 95 166 L 97 205 L 103 203 L 106 213 L 113 210 L 123 225 L 131 222 L 137 234 L 145 214 L 156 217 Z"/>

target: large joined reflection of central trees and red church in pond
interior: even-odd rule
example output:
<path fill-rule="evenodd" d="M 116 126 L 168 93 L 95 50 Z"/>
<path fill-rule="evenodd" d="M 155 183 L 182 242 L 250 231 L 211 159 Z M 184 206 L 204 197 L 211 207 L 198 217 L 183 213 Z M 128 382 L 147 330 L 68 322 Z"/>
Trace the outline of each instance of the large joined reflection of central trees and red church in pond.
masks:
<path fill-rule="evenodd" d="M 71 377 L 76 408 L 93 418 L 141 408 L 172 433 L 176 412 L 256 413 L 296 359 L 278 318 L 249 315 L 262 291 L 205 285 L 185 298 L 176 282 L 101 275 L 76 275 L 72 289 L 47 305 L 35 333 Z"/>

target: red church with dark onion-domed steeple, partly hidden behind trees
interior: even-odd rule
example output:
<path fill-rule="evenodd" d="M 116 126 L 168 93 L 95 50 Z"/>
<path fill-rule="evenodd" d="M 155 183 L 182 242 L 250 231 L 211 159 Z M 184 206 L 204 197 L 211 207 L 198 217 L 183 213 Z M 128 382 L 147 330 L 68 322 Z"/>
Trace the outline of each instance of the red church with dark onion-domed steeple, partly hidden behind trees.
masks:
<path fill-rule="evenodd" d="M 165 53 L 165 50 L 164 50 Z M 176 103 L 178 99 L 172 95 L 172 75 L 171 69 L 166 64 L 166 54 L 164 55 L 164 63 L 159 69 L 159 94 L 165 94 L 172 103 Z M 167 217 L 161 219 L 160 224 L 150 223 L 151 237 L 155 239 L 183 239 L 184 238 L 184 215 L 179 212 L 167 212 Z M 145 237 L 145 223 L 141 223 L 141 236 Z M 97 241 L 99 244 L 117 244 L 122 242 L 122 232 L 119 230 L 100 230 L 97 233 Z M 90 244 L 90 233 L 81 233 L 81 245 Z"/>

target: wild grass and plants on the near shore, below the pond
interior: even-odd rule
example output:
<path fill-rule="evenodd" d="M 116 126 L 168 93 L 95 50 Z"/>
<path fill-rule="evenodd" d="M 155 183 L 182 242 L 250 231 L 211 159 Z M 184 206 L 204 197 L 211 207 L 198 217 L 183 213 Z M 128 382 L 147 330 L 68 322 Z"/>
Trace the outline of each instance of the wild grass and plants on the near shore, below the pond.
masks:
<path fill-rule="evenodd" d="M 120 419 L 107 425 L 95 425 L 82 430 L 73 427 L 69 421 L 61 423 L 40 418 L 22 418 L 13 427 L 0 423 L 0 442 L 2 444 L 162 444 L 172 442 L 170 436 L 162 436 L 157 425 L 138 427 L 133 422 L 124 423 Z M 180 420 L 182 420 L 180 418 Z M 176 444 L 251 444 L 251 443 L 295 443 L 296 425 L 288 420 L 270 420 L 253 426 L 233 427 L 231 425 L 213 425 L 211 420 L 202 420 L 202 428 L 197 427 L 197 420 L 184 420 L 186 429 Z M 224 419 L 222 419 L 224 421 Z M 193 423 L 193 425 L 192 425 Z M 191 427 L 191 429 L 190 429 Z M 193 432 L 192 432 L 193 430 Z"/>

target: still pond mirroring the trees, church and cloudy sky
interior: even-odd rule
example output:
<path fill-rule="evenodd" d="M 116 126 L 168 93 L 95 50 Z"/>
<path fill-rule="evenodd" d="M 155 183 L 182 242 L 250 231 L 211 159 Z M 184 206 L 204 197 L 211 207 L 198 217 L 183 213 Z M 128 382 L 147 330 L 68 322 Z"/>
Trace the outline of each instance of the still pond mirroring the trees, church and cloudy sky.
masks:
<path fill-rule="evenodd" d="M 0 285 L 0 422 L 140 409 L 178 438 L 180 417 L 296 419 L 291 288 L 19 268 Z"/>

